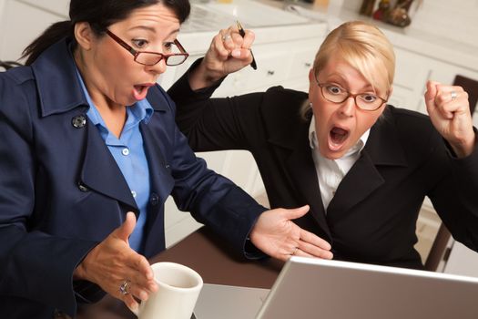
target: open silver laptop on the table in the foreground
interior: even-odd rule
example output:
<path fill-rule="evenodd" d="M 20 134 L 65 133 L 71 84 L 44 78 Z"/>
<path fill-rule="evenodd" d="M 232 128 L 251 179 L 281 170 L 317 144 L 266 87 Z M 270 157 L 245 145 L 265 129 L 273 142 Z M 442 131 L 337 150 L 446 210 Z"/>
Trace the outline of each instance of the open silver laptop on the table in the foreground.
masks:
<path fill-rule="evenodd" d="M 478 278 L 296 256 L 269 293 L 208 284 L 203 291 L 198 319 L 478 318 Z"/>

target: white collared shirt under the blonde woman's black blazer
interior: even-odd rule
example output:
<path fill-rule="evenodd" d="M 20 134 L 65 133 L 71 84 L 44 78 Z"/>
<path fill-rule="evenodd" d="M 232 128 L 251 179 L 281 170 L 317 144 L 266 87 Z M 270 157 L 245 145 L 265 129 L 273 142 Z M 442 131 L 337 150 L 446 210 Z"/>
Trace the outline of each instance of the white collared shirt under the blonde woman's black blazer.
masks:
<path fill-rule="evenodd" d="M 317 172 L 317 179 L 319 180 L 320 197 L 326 212 L 341 180 L 361 157 L 361 149 L 363 149 L 367 139 L 369 139 L 369 134 L 370 129 L 367 129 L 357 143 L 340 159 L 329 160 L 320 155 L 319 141 L 315 133 L 315 117 L 312 116 L 309 128 L 310 149 L 312 149 L 312 158 L 315 164 L 315 171 Z"/>

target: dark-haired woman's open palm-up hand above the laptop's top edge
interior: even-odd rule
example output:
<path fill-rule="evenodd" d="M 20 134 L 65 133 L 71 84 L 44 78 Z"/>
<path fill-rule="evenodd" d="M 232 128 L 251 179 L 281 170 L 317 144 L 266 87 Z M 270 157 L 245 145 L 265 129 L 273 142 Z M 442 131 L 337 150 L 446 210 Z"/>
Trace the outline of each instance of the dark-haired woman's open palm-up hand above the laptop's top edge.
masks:
<path fill-rule="evenodd" d="M 302 230 L 292 221 L 308 211 L 308 205 L 293 210 L 264 211 L 250 232 L 250 241 L 262 252 L 281 261 L 288 260 L 291 255 L 331 259 L 329 242 Z"/>

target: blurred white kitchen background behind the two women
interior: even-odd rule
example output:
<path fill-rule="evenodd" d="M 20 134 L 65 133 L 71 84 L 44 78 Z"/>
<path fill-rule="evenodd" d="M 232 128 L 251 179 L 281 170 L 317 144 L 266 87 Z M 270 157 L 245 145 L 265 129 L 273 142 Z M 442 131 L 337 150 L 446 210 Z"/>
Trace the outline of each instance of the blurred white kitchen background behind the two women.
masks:
<path fill-rule="evenodd" d="M 347 20 L 376 23 L 395 46 L 397 69 L 389 101 L 425 112 L 422 95 L 428 79 L 467 86 L 472 108 L 478 99 L 478 0 L 192 0 L 179 40 L 190 57 L 169 67 L 158 82 L 171 86 L 208 49 L 220 28 L 240 23 L 256 34 L 258 70 L 246 67 L 229 76 L 216 96 L 263 90 L 273 85 L 308 90 L 307 74 L 324 36 Z M 47 26 L 67 19 L 69 0 L 0 0 L 0 71 Z M 392 12 L 392 15 L 387 15 Z M 362 13 L 362 14 L 361 14 Z M 22 62 L 22 61 L 19 61 Z M 478 116 L 473 117 L 478 126 Z M 208 166 L 228 176 L 268 205 L 254 160 L 246 151 L 199 153 Z M 417 223 L 417 249 L 429 269 L 478 276 L 478 254 L 454 242 L 441 229 L 430 201 Z M 167 202 L 168 245 L 200 225 Z M 439 240 L 436 239 L 440 231 Z M 431 253 L 432 252 L 432 253 Z"/>

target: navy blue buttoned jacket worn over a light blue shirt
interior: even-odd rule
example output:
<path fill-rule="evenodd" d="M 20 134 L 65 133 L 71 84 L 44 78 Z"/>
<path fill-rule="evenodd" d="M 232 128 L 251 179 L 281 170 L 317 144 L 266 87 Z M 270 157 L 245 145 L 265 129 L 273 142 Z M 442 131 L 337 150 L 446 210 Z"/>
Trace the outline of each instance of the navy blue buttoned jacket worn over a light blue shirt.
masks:
<path fill-rule="evenodd" d="M 180 210 L 191 211 L 243 252 L 265 208 L 196 158 L 161 87 L 152 87 L 147 99 L 155 111 L 140 124 L 151 175 L 144 255 L 165 249 L 169 194 Z M 80 294 L 83 301 L 101 296 L 97 286 L 74 282 L 72 274 L 127 211 L 138 212 L 116 161 L 86 118 L 87 108 L 67 40 L 31 67 L 0 73 L 2 318 L 47 318 L 57 310 L 75 315 Z"/>

